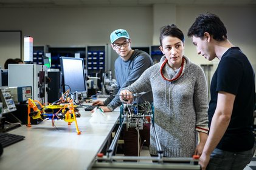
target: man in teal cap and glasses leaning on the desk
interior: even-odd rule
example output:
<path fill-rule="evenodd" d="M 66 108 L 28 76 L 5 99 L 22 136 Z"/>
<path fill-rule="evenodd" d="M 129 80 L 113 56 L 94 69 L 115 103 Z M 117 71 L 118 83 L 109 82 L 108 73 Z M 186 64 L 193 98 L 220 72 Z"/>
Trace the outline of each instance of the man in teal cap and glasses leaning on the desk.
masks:
<path fill-rule="evenodd" d="M 119 57 L 115 61 L 115 73 L 117 80 L 117 88 L 114 93 L 108 97 L 104 102 L 97 100 L 92 105 L 101 105 L 101 108 L 105 112 L 113 111 L 117 106 L 122 105 L 119 94 L 122 88 L 128 87 L 137 79 L 140 75 L 151 67 L 154 63 L 148 53 L 142 50 L 131 49 L 131 39 L 126 30 L 118 29 L 110 34 L 111 47 Z M 153 102 L 153 95 L 150 92 L 140 96 L 138 103 L 145 103 L 145 101 Z M 124 128 L 126 129 L 126 128 Z M 128 128 L 128 131 L 124 132 L 124 154 L 125 155 L 137 155 L 137 131 L 135 128 Z M 146 140 L 149 146 L 150 142 L 150 125 L 144 125 L 144 129 L 140 130 L 140 145 Z"/>

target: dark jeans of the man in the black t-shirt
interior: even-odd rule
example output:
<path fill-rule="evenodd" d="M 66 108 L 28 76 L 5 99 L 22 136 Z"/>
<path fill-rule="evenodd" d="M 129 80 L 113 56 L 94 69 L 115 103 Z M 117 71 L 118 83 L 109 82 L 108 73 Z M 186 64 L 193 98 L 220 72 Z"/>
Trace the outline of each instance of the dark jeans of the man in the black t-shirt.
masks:
<path fill-rule="evenodd" d="M 243 152 L 228 152 L 215 148 L 210 155 L 207 170 L 243 170 L 254 155 L 255 145 L 252 149 Z"/>

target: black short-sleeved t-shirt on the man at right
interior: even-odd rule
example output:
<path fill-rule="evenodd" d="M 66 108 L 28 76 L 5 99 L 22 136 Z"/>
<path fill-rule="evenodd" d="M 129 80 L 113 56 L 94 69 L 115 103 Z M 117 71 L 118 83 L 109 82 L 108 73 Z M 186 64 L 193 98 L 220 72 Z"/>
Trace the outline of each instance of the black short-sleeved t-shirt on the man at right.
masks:
<path fill-rule="evenodd" d="M 247 151 L 254 145 L 252 121 L 255 106 L 254 71 L 240 48 L 223 54 L 210 85 L 209 128 L 216 110 L 218 91 L 235 95 L 231 120 L 217 148 L 224 151 Z"/>

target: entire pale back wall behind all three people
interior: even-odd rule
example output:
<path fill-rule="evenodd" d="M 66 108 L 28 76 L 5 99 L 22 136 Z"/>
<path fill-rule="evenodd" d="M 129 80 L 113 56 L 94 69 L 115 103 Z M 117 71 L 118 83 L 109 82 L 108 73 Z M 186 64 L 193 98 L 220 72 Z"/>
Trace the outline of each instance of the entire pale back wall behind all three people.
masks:
<path fill-rule="evenodd" d="M 234 45 L 256 65 L 255 19 L 256 7 L 175 6 L 176 24 L 185 34 L 185 55 L 196 64 L 209 64 L 196 54 L 187 30 L 199 13 L 210 11 L 219 15 L 227 27 L 228 37 Z M 85 47 L 85 45 L 109 44 L 109 34 L 117 28 L 129 31 L 132 46 L 146 47 L 156 36 L 153 18 L 173 16 L 153 7 L 101 7 L 101 8 L 0 8 L 0 30 L 21 30 L 22 36 L 33 36 L 33 45 L 51 47 Z M 165 9 L 166 10 L 166 9 Z M 173 7 L 170 8 L 173 10 Z M 171 13 L 171 12 L 170 12 Z M 175 14 L 173 14 L 175 15 Z M 159 34 L 159 33 L 158 33 Z M 157 35 L 158 36 L 158 35 Z M 154 44 L 156 45 L 156 44 Z M 109 47 L 109 45 L 108 45 Z M 111 69 L 117 55 L 109 48 Z M 1 56 L 0 56 L 1 57 Z M 4 64 L 1 63 L 3 66 Z"/>

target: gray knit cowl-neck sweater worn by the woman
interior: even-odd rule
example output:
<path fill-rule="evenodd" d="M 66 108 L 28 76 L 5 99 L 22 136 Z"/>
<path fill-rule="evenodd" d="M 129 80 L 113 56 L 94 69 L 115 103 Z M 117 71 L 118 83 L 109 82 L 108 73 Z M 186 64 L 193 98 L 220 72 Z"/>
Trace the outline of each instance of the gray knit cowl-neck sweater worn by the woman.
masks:
<path fill-rule="evenodd" d="M 154 127 L 164 156 L 192 157 L 195 152 L 196 131 L 208 129 L 208 98 L 206 77 L 202 68 L 186 60 L 184 74 L 174 82 L 164 80 L 160 67 L 165 60 L 148 68 L 136 82 L 125 88 L 133 93 L 153 92 Z M 162 71 L 168 79 L 178 73 L 168 64 Z M 150 131 L 150 154 L 157 155 L 153 131 Z"/>

